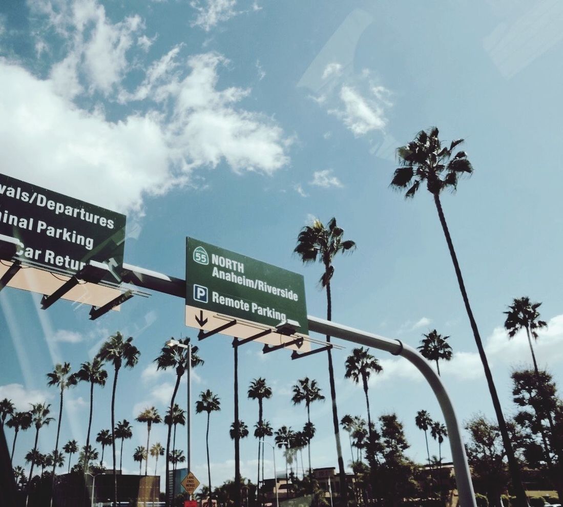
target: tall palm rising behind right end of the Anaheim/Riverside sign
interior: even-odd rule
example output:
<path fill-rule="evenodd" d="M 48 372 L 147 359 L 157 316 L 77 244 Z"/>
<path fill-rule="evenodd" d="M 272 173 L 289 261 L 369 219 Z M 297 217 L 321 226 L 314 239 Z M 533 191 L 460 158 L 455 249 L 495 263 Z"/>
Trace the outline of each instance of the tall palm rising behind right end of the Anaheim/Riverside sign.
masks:
<path fill-rule="evenodd" d="M 327 289 L 327 320 L 332 320 L 332 297 L 330 295 L 330 280 L 334 275 L 332 262 L 338 253 L 352 252 L 356 244 L 351 240 L 343 240 L 344 230 L 336 225 L 336 218 L 331 218 L 327 227 L 319 219 L 315 219 L 310 226 L 302 228 L 297 236 L 297 246 L 293 250 L 303 263 L 319 261 L 324 266 L 323 275 L 320 277 L 320 285 Z M 327 342 L 330 336 L 327 335 Z M 328 377 L 330 382 L 330 400 L 332 400 L 332 424 L 334 427 L 334 439 L 336 440 L 336 452 L 338 455 L 338 475 L 341 484 L 346 484 L 346 473 L 344 460 L 342 459 L 342 446 L 338 426 L 338 410 L 336 405 L 336 387 L 334 385 L 334 367 L 332 364 L 332 351 L 328 354 Z M 342 488 L 342 505 L 346 505 L 346 487 Z"/>

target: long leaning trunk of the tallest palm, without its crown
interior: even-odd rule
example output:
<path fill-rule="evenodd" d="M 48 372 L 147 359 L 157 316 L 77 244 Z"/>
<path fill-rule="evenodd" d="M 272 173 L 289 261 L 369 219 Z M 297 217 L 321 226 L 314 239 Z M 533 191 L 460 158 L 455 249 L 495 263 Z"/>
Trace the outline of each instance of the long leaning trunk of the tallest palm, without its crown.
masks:
<path fill-rule="evenodd" d="M 506 451 L 506 456 L 507 456 L 507 459 L 508 459 L 508 469 L 510 470 L 510 476 L 511 476 L 511 479 L 512 479 L 512 487 L 514 488 L 514 492 L 515 492 L 515 495 L 516 495 L 516 502 L 517 502 L 517 505 L 519 507 L 527 507 L 528 506 L 528 499 L 526 498 L 526 491 L 524 490 L 524 486 L 522 486 L 520 469 L 519 469 L 519 466 L 518 466 L 518 462 L 516 461 L 514 451 L 512 449 L 512 443 L 510 441 L 510 435 L 508 434 L 508 429 L 506 427 L 506 421 L 504 420 L 504 415 L 502 413 L 501 402 L 499 401 L 499 398 L 498 398 L 497 388 L 494 385 L 493 375 L 491 374 L 491 371 L 490 371 L 490 368 L 489 368 L 489 361 L 487 360 L 487 357 L 485 355 L 485 349 L 483 348 L 481 336 L 479 335 L 479 330 L 477 329 L 477 324 L 475 322 L 475 318 L 473 318 L 473 312 L 471 311 L 471 306 L 469 304 L 469 298 L 467 297 L 467 291 L 465 289 L 465 284 L 463 283 L 463 277 L 462 277 L 462 274 L 461 274 L 461 269 L 459 268 L 457 255 L 455 255 L 455 250 L 454 250 L 454 246 L 453 246 L 453 243 L 452 243 L 452 238 L 450 237 L 450 233 L 449 233 L 449 230 L 448 230 L 448 224 L 446 223 L 446 219 L 444 217 L 444 210 L 442 209 L 442 205 L 440 203 L 440 198 L 439 198 L 438 194 L 434 194 L 434 203 L 436 205 L 438 216 L 440 218 L 442 230 L 444 231 L 444 236 L 446 237 L 446 243 L 448 244 L 450 257 L 452 257 L 455 275 L 457 276 L 459 290 L 461 291 L 461 295 L 462 295 L 462 298 L 463 298 L 463 304 L 464 304 L 465 309 L 467 311 L 467 316 L 469 317 L 471 329 L 473 331 L 473 337 L 475 338 L 477 350 L 479 351 L 479 356 L 481 358 L 483 369 L 485 370 L 485 377 L 487 379 L 487 384 L 489 386 L 489 392 L 490 392 L 490 395 L 491 395 L 491 398 L 492 398 L 492 401 L 493 401 L 495 414 L 497 415 L 497 421 L 498 421 L 499 430 L 500 430 L 501 436 L 502 436 L 504 450 Z"/>

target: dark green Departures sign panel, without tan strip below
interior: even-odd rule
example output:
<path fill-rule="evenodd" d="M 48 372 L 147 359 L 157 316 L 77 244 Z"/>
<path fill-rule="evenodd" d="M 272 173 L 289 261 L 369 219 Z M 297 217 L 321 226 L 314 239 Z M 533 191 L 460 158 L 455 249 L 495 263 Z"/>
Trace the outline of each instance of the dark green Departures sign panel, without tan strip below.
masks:
<path fill-rule="evenodd" d="M 88 261 L 110 271 L 119 284 L 126 217 L 0 174 L 0 234 L 23 244 L 16 258 L 28 266 L 74 275 Z"/>

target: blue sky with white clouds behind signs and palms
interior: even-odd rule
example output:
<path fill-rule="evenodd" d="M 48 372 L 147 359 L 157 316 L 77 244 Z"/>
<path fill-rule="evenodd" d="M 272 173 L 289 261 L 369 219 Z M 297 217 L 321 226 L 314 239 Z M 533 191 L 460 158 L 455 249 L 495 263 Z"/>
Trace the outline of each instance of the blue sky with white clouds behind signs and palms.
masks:
<path fill-rule="evenodd" d="M 563 182 L 553 158 L 562 18 L 563 7 L 549 0 L 4 2 L 0 172 L 126 213 L 129 264 L 184 277 L 185 237 L 193 236 L 301 272 L 307 310 L 320 317 L 320 265 L 303 267 L 292 250 L 313 217 L 335 216 L 358 249 L 334 263 L 334 320 L 413 346 L 434 328 L 451 336 L 454 358 L 441 370 L 463 421 L 493 410 L 436 210 L 427 192 L 405 202 L 388 188 L 395 148 L 417 131 L 437 125 L 443 140 L 463 137 L 475 173 L 443 205 L 510 415 L 510 371 L 530 362 L 524 336 L 509 342 L 502 329 L 512 298 L 543 302 L 549 327 L 535 350 L 563 382 Z M 174 379 L 157 374 L 153 360 L 170 336 L 196 334 L 183 325 L 180 298 L 133 298 L 94 322 L 88 308 L 59 302 L 41 311 L 39 300 L 0 293 L 0 398 L 20 410 L 46 400 L 56 412 L 44 374 L 60 361 L 78 369 L 120 330 L 134 337 L 141 359 L 120 374 L 117 418 L 131 421 L 150 405 L 166 410 Z M 334 353 L 339 416 L 365 416 L 361 388 L 343 378 L 352 346 L 342 344 Z M 232 349 L 224 336 L 200 346 L 205 365 L 194 392 L 209 388 L 221 398 L 211 421 L 219 484 L 233 475 Z M 422 462 L 415 412 L 439 419 L 437 403 L 405 361 L 374 354 L 383 373 L 370 383 L 372 414 L 396 411 L 409 456 Z M 244 394 L 258 376 L 274 390 L 265 418 L 275 428 L 306 421 L 305 408 L 290 401 L 298 378 L 317 379 L 329 396 L 324 355 L 292 362 L 289 353 L 262 356 L 248 344 L 239 366 L 249 425 L 257 406 Z M 110 427 L 110 397 L 109 387 L 96 392 L 95 433 Z M 184 387 L 178 397 L 185 399 Z M 63 443 L 84 443 L 87 415 L 81 385 L 66 395 Z M 312 465 L 336 465 L 329 403 L 312 406 L 311 419 Z M 202 482 L 204 423 L 194 416 L 193 468 Z M 42 430 L 42 452 L 52 450 L 55 431 L 55 424 Z M 9 429 L 7 437 L 11 444 Z M 157 441 L 166 442 L 163 425 L 151 432 Z M 132 452 L 145 442 L 146 427 L 135 423 L 124 469 L 135 473 Z M 15 463 L 32 446 L 32 432 L 20 434 Z M 254 479 L 256 447 L 248 438 L 241 453 L 243 474 Z M 443 452 L 447 459 L 447 446 Z"/>

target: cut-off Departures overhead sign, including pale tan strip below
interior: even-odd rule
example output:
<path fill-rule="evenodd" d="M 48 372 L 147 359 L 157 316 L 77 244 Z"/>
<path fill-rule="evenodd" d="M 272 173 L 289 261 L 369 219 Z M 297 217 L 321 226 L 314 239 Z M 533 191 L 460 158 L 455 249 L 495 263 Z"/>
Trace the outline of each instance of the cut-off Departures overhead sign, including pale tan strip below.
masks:
<path fill-rule="evenodd" d="M 44 308 L 59 297 L 103 307 L 122 295 L 125 223 L 120 213 L 0 174 L 0 239 L 16 242 L 14 255 L 3 255 L 0 289 L 59 291 Z M 91 283 L 65 285 L 85 272 Z"/>

